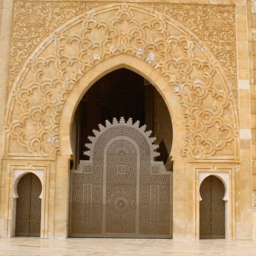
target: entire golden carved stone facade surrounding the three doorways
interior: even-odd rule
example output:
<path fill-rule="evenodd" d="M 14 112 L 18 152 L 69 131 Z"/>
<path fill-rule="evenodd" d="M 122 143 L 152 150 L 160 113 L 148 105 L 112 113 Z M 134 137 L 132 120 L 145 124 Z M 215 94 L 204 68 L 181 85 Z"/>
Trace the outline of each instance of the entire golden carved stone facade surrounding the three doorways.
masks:
<path fill-rule="evenodd" d="M 41 237 L 67 236 L 72 150 L 62 132 L 113 60 L 140 70 L 171 114 L 174 238 L 199 237 L 196 169 L 229 173 L 228 236 L 256 237 L 254 2 L 162 2 L 0 1 L 0 236 L 13 236 L 14 169 L 44 169 Z"/>

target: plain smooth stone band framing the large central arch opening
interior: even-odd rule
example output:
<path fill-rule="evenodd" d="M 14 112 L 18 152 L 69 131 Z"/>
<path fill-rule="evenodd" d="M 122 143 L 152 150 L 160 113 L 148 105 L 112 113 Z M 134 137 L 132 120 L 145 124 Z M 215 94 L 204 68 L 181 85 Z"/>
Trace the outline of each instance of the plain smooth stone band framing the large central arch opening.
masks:
<path fill-rule="evenodd" d="M 175 157 L 182 156 L 182 151 L 185 143 L 185 120 L 183 118 L 181 105 L 177 100 L 173 89 L 164 77 L 151 66 L 148 66 L 144 61 L 136 57 L 119 54 L 101 61 L 92 67 L 70 91 L 67 100 L 63 106 L 59 125 L 59 142 L 60 154 L 73 154 L 71 145 L 72 121 L 77 105 L 82 99 L 87 90 L 101 77 L 116 69 L 126 68 L 140 74 L 154 85 L 156 90 L 163 97 L 169 110 L 172 128 L 173 141 L 170 156 L 175 161 Z"/>

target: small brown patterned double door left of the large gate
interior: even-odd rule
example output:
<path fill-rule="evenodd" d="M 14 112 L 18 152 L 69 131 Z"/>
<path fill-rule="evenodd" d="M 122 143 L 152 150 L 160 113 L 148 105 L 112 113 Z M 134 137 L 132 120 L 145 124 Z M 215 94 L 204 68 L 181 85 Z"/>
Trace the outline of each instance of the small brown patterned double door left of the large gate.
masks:
<path fill-rule="evenodd" d="M 40 236 L 41 198 L 40 179 L 28 173 L 20 178 L 17 185 L 15 236 Z"/>

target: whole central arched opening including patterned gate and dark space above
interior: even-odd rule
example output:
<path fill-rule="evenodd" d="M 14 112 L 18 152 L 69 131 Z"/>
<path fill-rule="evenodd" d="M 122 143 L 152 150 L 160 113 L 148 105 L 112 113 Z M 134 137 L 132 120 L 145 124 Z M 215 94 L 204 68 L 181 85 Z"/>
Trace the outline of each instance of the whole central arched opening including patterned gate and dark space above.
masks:
<path fill-rule="evenodd" d="M 112 138 L 110 145 L 108 136 L 99 139 L 107 143 L 104 148 L 89 145 L 93 136 L 109 125 L 125 128 L 116 132 L 118 139 Z M 107 74 L 82 97 L 73 131 L 76 154 L 70 176 L 69 236 L 172 237 L 172 164 L 168 154 L 172 122 L 154 86 L 128 69 Z M 137 136 L 131 138 L 134 132 Z M 152 153 L 154 136 L 165 147 L 160 151 L 167 152 L 158 156 L 160 161 L 154 161 Z M 151 142 L 140 146 L 145 140 Z M 84 143 L 85 150 L 91 148 L 89 156 L 83 154 Z M 143 151 L 147 147 L 152 152 L 146 157 Z M 105 153 L 96 157 L 102 150 Z"/>

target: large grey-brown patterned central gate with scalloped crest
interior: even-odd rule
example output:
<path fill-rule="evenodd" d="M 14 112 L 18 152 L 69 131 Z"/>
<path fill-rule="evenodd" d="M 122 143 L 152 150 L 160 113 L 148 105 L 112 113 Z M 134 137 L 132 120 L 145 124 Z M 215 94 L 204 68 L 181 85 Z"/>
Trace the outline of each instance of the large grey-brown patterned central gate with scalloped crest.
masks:
<path fill-rule="evenodd" d="M 69 236 L 169 238 L 170 172 L 151 131 L 123 118 L 99 129 L 71 172 Z"/>

